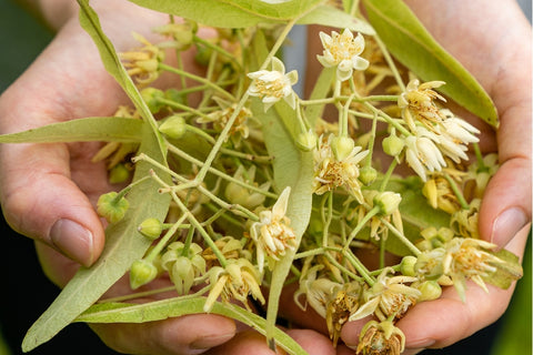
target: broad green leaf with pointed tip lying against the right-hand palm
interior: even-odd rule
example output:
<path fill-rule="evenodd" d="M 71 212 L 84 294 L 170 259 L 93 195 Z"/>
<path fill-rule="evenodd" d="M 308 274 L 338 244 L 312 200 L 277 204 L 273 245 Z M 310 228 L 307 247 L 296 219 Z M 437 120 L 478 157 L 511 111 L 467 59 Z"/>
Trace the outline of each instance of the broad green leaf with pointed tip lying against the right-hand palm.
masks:
<path fill-rule="evenodd" d="M 400 0 L 363 0 L 370 23 L 391 53 L 424 81 L 442 80 L 444 94 L 497 128 L 497 112 L 481 84 L 425 30 Z"/>

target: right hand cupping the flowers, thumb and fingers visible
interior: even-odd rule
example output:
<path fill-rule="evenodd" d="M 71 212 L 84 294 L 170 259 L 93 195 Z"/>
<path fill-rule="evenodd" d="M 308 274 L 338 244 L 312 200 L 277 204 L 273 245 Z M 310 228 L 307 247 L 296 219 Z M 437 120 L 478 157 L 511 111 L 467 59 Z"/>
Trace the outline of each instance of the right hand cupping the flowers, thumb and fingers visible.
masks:
<path fill-rule="evenodd" d="M 501 125 L 494 138 L 482 129 L 482 148 L 497 149 L 501 168 L 490 182 L 480 212 L 481 237 L 523 255 L 531 223 L 531 26 L 515 1 L 421 1 L 408 4 L 425 27 L 469 69 L 493 98 Z M 505 29 L 499 31 L 496 29 Z M 480 126 L 481 121 L 476 122 Z M 514 287 L 490 293 L 471 283 L 463 303 L 455 290 L 412 308 L 398 323 L 406 354 L 451 345 L 496 321 Z M 342 338 L 358 343 L 358 324 Z"/>

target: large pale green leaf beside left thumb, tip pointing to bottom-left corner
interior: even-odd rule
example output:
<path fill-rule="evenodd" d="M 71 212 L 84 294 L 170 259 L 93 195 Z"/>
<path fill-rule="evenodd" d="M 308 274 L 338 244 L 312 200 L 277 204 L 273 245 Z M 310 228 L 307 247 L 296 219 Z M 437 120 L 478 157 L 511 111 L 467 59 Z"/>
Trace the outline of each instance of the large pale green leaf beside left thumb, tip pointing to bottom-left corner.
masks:
<path fill-rule="evenodd" d="M 144 125 L 140 150 L 160 162 L 163 156 L 157 138 Z M 140 162 L 137 165 L 134 181 L 149 174 L 151 165 Z M 169 180 L 167 174 L 157 171 L 160 178 Z M 78 315 L 97 302 L 131 266 L 131 263 L 144 254 L 151 242 L 143 237 L 137 227 L 147 217 L 163 220 L 170 204 L 167 194 L 158 192 L 159 185 L 147 180 L 135 185 L 128 194 L 131 205 L 124 219 L 111 224 L 105 231 L 105 247 L 98 262 L 90 268 L 81 267 L 68 283 L 50 307 L 31 326 L 22 343 L 22 349 L 29 352 L 48 342 Z"/>

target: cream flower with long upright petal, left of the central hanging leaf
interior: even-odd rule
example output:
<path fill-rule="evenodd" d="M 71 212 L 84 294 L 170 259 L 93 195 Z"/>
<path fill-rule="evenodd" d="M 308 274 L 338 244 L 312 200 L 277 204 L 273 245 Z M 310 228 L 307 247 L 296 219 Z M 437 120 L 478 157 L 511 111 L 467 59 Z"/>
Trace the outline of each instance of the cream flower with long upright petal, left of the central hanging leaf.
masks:
<path fill-rule="evenodd" d="M 291 187 L 285 187 L 272 206 L 272 211 L 259 213 L 259 222 L 250 227 L 250 235 L 257 244 L 259 272 L 263 272 L 264 257 L 278 261 L 286 250 L 296 247 L 296 236 L 290 226 L 291 220 L 285 216 Z"/>

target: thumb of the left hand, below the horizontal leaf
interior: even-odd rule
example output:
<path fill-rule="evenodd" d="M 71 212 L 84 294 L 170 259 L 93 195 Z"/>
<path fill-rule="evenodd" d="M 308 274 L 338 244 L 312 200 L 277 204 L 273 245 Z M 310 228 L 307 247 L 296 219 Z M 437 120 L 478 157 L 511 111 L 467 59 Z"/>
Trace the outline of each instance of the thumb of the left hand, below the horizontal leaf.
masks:
<path fill-rule="evenodd" d="M 0 199 L 17 232 L 91 265 L 103 248 L 100 219 L 71 180 L 66 144 L 3 145 Z"/>

